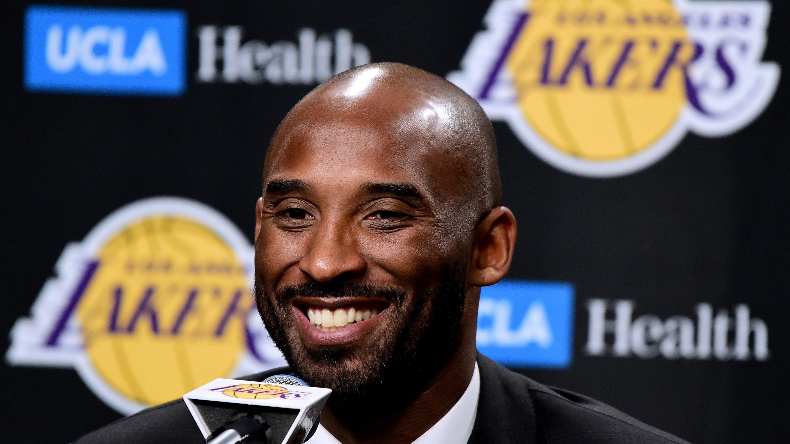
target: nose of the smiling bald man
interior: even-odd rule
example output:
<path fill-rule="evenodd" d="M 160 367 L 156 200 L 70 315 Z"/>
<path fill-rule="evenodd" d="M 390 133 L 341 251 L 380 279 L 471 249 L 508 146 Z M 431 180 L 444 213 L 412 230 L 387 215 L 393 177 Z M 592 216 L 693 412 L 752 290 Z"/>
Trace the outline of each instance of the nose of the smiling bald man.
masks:
<path fill-rule="evenodd" d="M 319 228 L 299 269 L 318 282 L 359 277 L 367 270 L 367 261 L 357 250 L 350 230 L 336 224 Z"/>

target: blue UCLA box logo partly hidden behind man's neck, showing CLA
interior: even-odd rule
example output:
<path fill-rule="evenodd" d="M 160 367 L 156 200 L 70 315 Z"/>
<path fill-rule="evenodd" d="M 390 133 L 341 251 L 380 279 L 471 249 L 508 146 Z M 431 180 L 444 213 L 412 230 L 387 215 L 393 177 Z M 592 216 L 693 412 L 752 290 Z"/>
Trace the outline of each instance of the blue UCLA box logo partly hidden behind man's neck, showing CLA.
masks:
<path fill-rule="evenodd" d="M 569 283 L 503 280 L 480 294 L 477 348 L 502 365 L 568 367 L 573 333 Z"/>

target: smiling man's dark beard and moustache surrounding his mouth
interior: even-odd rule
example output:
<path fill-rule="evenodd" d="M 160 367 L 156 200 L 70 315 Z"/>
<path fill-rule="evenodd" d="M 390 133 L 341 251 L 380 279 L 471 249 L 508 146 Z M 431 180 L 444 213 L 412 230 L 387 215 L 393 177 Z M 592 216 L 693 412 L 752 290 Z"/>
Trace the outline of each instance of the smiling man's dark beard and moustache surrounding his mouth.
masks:
<path fill-rule="evenodd" d="M 465 307 L 465 263 L 446 267 L 431 287 L 412 295 L 403 288 L 355 281 L 292 285 L 267 292 L 255 280 L 255 300 L 266 329 L 292 371 L 313 386 L 332 389 L 329 403 L 363 408 L 387 399 L 393 408 L 421 393 L 456 351 Z M 302 343 L 292 299 L 297 296 L 386 299 L 389 321 L 372 341 L 307 348 Z"/>

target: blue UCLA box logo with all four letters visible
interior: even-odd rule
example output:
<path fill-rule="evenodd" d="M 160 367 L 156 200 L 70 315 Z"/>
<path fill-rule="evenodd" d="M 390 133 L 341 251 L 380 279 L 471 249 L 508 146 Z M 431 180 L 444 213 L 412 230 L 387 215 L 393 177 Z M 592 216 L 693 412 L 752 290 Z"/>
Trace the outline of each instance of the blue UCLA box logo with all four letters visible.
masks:
<path fill-rule="evenodd" d="M 24 33 L 24 85 L 30 91 L 184 92 L 182 11 L 31 6 Z"/>

